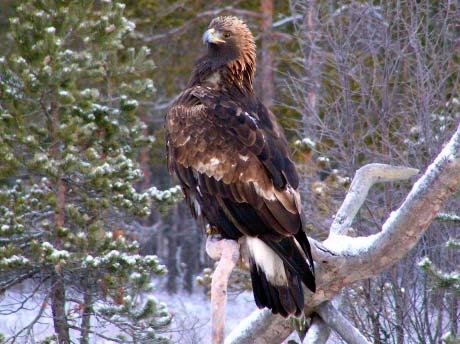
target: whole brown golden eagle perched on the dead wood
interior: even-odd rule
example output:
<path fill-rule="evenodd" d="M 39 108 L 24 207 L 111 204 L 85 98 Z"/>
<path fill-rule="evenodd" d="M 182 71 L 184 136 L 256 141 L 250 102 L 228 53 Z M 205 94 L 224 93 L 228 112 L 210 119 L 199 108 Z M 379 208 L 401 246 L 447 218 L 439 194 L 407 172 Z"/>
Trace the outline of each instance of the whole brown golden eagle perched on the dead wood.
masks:
<path fill-rule="evenodd" d="M 315 291 L 299 177 L 275 116 L 255 97 L 256 47 L 246 24 L 215 18 L 185 91 L 166 115 L 168 165 L 195 217 L 240 240 L 257 305 L 283 316 Z"/>

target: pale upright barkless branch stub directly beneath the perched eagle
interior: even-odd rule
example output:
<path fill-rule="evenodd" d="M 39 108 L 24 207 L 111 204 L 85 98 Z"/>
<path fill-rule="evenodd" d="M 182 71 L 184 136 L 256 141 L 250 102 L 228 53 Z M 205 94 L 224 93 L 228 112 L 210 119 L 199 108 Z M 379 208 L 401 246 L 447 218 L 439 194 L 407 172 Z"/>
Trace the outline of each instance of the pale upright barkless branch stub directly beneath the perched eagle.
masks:
<path fill-rule="evenodd" d="M 221 344 L 224 342 L 227 285 L 240 257 L 240 245 L 235 240 L 208 236 L 206 252 L 212 259 L 218 260 L 211 282 L 211 326 L 212 343 Z"/>

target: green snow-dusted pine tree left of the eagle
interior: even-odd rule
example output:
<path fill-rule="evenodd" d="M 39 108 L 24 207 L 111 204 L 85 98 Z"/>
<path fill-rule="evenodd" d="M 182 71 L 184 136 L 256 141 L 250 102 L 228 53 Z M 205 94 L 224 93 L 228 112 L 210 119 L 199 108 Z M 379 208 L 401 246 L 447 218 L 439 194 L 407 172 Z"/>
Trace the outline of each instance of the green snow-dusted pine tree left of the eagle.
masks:
<path fill-rule="evenodd" d="M 35 283 L 35 321 L 51 309 L 50 342 L 163 342 L 171 319 L 143 296 L 166 269 L 138 254 L 129 224 L 180 190 L 135 188 L 139 150 L 154 140 L 139 119 L 153 63 L 148 48 L 126 46 L 135 27 L 123 10 L 110 0 L 22 1 L 0 58 L 0 290 Z"/>

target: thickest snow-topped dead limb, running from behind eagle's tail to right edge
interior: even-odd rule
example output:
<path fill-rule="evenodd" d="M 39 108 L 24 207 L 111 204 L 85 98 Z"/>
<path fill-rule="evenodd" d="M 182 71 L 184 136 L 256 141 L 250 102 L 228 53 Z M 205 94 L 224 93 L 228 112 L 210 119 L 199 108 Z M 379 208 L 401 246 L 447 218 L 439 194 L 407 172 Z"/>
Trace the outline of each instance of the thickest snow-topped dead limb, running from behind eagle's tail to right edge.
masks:
<path fill-rule="evenodd" d="M 406 172 L 413 174 L 415 171 Z M 332 300 L 345 286 L 376 276 L 400 260 L 416 245 L 459 186 L 460 126 L 435 161 L 413 185 L 403 204 L 391 213 L 381 232 L 356 238 L 343 235 L 341 233 L 346 233 L 347 224 L 351 224 L 348 219 L 350 216 L 345 215 L 336 220 L 344 219 L 342 229 L 338 226 L 326 241 L 320 243 L 310 239 L 317 264 L 317 291 L 315 294 L 305 291 L 305 314 L 308 316 L 314 313 L 319 305 Z M 254 327 L 254 319 L 250 317 L 234 330 L 239 333 L 230 334 L 226 343 L 273 343 L 275 332 L 279 334 L 277 342 L 280 343 L 289 336 L 290 328 L 283 326 L 285 322 L 272 319 L 274 316 L 265 317 L 269 320 L 267 326 L 262 333 L 258 332 L 255 340 L 248 341 L 251 336 L 249 329 Z"/>

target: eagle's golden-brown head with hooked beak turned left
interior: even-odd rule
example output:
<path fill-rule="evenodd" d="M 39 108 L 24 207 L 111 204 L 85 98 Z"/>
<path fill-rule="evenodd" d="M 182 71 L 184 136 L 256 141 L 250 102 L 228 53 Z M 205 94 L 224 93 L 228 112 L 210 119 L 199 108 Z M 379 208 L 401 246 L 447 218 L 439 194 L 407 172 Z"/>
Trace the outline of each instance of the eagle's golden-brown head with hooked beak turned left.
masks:
<path fill-rule="evenodd" d="M 247 25 L 237 17 L 217 17 L 203 35 L 208 58 L 218 65 L 238 62 L 255 71 L 256 44 Z"/>

